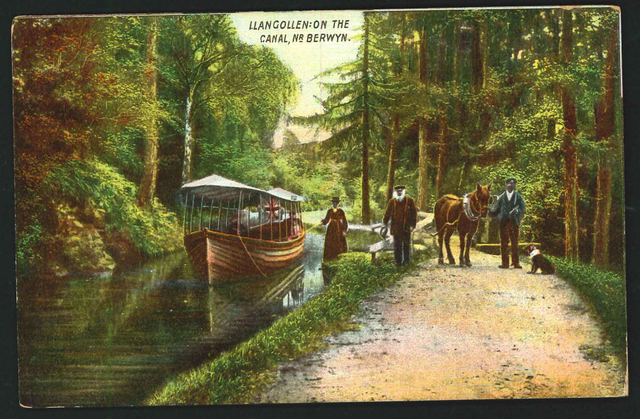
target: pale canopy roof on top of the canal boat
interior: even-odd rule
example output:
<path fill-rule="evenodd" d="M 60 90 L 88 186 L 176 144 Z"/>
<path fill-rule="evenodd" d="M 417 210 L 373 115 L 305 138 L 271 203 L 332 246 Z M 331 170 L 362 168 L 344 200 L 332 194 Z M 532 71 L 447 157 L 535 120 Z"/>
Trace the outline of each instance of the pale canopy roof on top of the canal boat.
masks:
<path fill-rule="evenodd" d="M 223 178 L 220 175 L 210 175 L 206 178 L 185 183 L 182 185 L 180 191 L 182 193 L 186 192 L 187 194 L 197 195 L 206 200 L 234 200 L 239 197 L 240 191 L 242 190 L 260 192 L 290 202 L 302 202 L 302 200 L 304 200 L 302 196 L 284 190 L 281 187 L 276 187 L 271 190 L 261 190 L 257 187 L 236 182 L 235 180 Z"/>

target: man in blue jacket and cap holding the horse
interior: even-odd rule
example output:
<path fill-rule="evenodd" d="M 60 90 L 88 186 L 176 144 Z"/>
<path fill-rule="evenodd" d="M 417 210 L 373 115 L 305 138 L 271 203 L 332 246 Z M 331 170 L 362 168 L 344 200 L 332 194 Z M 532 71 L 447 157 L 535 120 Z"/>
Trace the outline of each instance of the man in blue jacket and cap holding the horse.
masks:
<path fill-rule="evenodd" d="M 509 267 L 509 241 L 511 241 L 511 266 L 522 268 L 518 256 L 518 234 L 520 234 L 520 223 L 526 212 L 526 205 L 523 197 L 516 192 L 516 185 L 516 178 L 508 178 L 503 194 L 489 208 L 489 215 L 497 217 L 500 222 L 502 264 L 498 268 Z"/>

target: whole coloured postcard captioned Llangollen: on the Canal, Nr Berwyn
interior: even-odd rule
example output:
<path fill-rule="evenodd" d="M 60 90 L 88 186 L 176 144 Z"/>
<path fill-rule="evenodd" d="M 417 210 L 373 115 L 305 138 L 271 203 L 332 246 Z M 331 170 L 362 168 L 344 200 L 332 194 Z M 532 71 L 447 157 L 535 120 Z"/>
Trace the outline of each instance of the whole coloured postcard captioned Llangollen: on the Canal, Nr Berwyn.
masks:
<path fill-rule="evenodd" d="M 620 13 L 15 18 L 21 406 L 626 396 Z"/>

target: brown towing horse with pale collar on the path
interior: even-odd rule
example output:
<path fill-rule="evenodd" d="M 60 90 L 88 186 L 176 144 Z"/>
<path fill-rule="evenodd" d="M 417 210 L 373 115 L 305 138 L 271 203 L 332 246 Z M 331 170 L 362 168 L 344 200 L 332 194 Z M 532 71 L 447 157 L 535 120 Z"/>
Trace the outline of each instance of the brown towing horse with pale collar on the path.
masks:
<path fill-rule="evenodd" d="M 491 183 L 485 186 L 480 186 L 478 183 L 476 190 L 462 198 L 456 195 L 444 195 L 437 200 L 433 207 L 433 218 L 436 225 L 436 232 L 433 235 L 437 234 L 438 236 L 440 248 L 438 263 L 444 264 L 443 239 L 444 244 L 447 245 L 449 265 L 456 263 L 451 254 L 449 239 L 457 228 L 460 237 L 460 266 L 471 266 L 471 261 L 469 261 L 471 238 L 476 234 L 480 219 L 486 217 L 489 210 L 489 199 L 491 199 Z"/>

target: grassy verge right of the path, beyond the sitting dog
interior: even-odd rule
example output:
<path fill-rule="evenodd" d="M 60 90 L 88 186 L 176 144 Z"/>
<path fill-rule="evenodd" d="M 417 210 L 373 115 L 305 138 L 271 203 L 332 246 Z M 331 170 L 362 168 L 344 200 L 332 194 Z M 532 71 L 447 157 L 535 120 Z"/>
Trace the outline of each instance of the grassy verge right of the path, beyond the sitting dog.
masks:
<path fill-rule="evenodd" d="M 626 283 L 624 276 L 594 266 L 550 257 L 558 275 L 574 285 L 604 322 L 612 349 L 626 351 Z"/>

